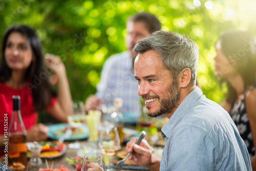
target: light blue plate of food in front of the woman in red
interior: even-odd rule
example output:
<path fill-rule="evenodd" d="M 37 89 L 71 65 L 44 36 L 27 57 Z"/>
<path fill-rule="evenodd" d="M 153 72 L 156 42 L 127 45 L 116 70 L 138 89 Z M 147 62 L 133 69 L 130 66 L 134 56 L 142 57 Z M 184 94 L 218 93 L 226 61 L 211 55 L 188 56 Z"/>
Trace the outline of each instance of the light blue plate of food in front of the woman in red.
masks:
<path fill-rule="evenodd" d="M 86 124 L 81 124 L 79 127 L 74 127 L 68 123 L 56 123 L 49 125 L 48 137 L 54 140 L 58 140 L 63 134 L 65 134 L 68 128 L 71 128 L 72 135 L 65 140 L 71 141 L 86 139 L 89 137 L 89 129 Z"/>

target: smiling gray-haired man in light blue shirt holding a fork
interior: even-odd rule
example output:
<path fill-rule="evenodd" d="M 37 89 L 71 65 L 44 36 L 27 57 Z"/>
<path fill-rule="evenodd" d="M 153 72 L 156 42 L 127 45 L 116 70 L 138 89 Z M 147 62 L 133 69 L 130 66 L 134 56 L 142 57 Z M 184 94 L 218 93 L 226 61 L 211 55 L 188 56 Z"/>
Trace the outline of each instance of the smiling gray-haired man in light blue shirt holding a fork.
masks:
<path fill-rule="evenodd" d="M 166 141 L 160 161 L 136 138 L 130 159 L 151 170 L 252 170 L 250 158 L 229 114 L 196 86 L 199 51 L 195 42 L 174 32 L 157 31 L 134 48 L 138 94 L 147 115 L 169 118 L 162 127 Z"/>

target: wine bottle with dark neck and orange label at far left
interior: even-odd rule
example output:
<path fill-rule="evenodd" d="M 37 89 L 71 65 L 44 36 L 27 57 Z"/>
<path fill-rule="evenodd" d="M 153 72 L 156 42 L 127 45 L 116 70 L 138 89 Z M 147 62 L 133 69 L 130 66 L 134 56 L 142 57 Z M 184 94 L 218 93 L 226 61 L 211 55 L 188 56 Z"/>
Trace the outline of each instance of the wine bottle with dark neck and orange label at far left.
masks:
<path fill-rule="evenodd" d="M 12 118 L 8 128 L 9 147 L 8 147 L 8 165 L 11 170 L 27 169 L 27 132 L 20 114 L 20 97 L 12 96 L 13 111 Z"/>

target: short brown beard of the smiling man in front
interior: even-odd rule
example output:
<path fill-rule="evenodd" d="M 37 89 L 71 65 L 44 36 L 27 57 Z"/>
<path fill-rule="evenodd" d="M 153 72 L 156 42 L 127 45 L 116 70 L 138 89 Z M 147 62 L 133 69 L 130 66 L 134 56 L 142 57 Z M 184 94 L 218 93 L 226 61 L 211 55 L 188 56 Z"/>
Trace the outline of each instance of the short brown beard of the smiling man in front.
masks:
<path fill-rule="evenodd" d="M 147 108 L 148 116 L 158 117 L 162 114 L 173 112 L 173 110 L 177 108 L 177 106 L 179 105 L 179 101 L 180 101 L 180 92 L 178 90 L 178 82 L 175 81 L 170 85 L 168 89 L 168 95 L 165 99 L 160 99 L 159 96 L 156 96 L 155 98 L 159 99 L 160 109 L 154 113 L 149 113 L 148 110 L 150 110 L 151 106 L 147 106 L 146 108 Z"/>

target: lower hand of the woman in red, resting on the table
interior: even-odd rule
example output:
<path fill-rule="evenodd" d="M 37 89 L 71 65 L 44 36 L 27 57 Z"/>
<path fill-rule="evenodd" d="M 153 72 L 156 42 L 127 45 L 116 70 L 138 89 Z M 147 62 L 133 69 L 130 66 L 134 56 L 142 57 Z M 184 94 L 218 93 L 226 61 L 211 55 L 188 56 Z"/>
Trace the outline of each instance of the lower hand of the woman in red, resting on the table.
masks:
<path fill-rule="evenodd" d="M 41 123 L 36 124 L 28 130 L 27 140 L 28 140 L 28 142 L 31 142 L 31 141 L 37 141 L 37 142 L 45 141 L 48 138 L 48 136 L 47 136 L 48 131 L 49 131 L 49 129 L 46 125 L 41 124 Z"/>

